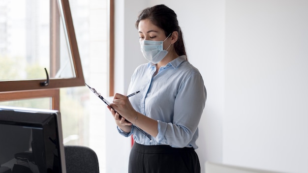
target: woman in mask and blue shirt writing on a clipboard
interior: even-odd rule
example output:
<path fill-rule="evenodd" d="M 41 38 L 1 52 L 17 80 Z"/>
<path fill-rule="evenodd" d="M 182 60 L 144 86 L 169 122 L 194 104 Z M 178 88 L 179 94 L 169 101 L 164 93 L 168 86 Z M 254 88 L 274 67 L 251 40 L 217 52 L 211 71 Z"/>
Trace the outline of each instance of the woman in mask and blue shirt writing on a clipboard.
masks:
<path fill-rule="evenodd" d="M 144 9 L 136 27 L 143 56 L 128 93 L 115 94 L 111 107 L 119 132 L 133 135 L 129 173 L 200 173 L 194 149 L 206 89 L 186 58 L 177 15 L 165 5 Z"/>

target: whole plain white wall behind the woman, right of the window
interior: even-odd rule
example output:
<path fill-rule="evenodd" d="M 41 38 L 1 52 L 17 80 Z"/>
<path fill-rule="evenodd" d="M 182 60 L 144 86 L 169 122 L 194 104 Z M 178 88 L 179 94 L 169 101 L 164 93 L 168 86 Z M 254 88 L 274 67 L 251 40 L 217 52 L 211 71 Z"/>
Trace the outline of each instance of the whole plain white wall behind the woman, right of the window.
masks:
<path fill-rule="evenodd" d="M 208 91 L 196 150 L 202 171 L 209 160 L 308 172 L 308 2 L 116 0 L 117 92 L 126 93 L 145 62 L 138 12 L 160 3 L 178 14 L 188 59 Z"/>

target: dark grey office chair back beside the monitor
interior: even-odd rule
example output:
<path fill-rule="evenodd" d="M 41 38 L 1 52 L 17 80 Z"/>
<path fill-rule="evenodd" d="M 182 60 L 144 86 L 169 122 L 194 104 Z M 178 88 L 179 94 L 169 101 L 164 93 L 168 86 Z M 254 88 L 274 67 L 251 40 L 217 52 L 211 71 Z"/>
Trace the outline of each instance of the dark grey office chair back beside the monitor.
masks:
<path fill-rule="evenodd" d="M 96 153 L 87 146 L 64 145 L 66 173 L 99 173 Z"/>

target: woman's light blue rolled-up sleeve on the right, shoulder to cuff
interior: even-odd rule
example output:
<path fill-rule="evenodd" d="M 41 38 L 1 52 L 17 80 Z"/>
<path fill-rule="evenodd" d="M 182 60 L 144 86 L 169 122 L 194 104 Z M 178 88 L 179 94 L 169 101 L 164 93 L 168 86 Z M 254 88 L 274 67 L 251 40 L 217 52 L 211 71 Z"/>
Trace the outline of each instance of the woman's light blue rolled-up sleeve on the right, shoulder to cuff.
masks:
<path fill-rule="evenodd" d="M 205 106 L 206 90 L 199 73 L 192 73 L 177 94 L 173 121 L 158 121 L 158 135 L 155 141 L 173 147 L 193 146 L 198 124 Z"/>

